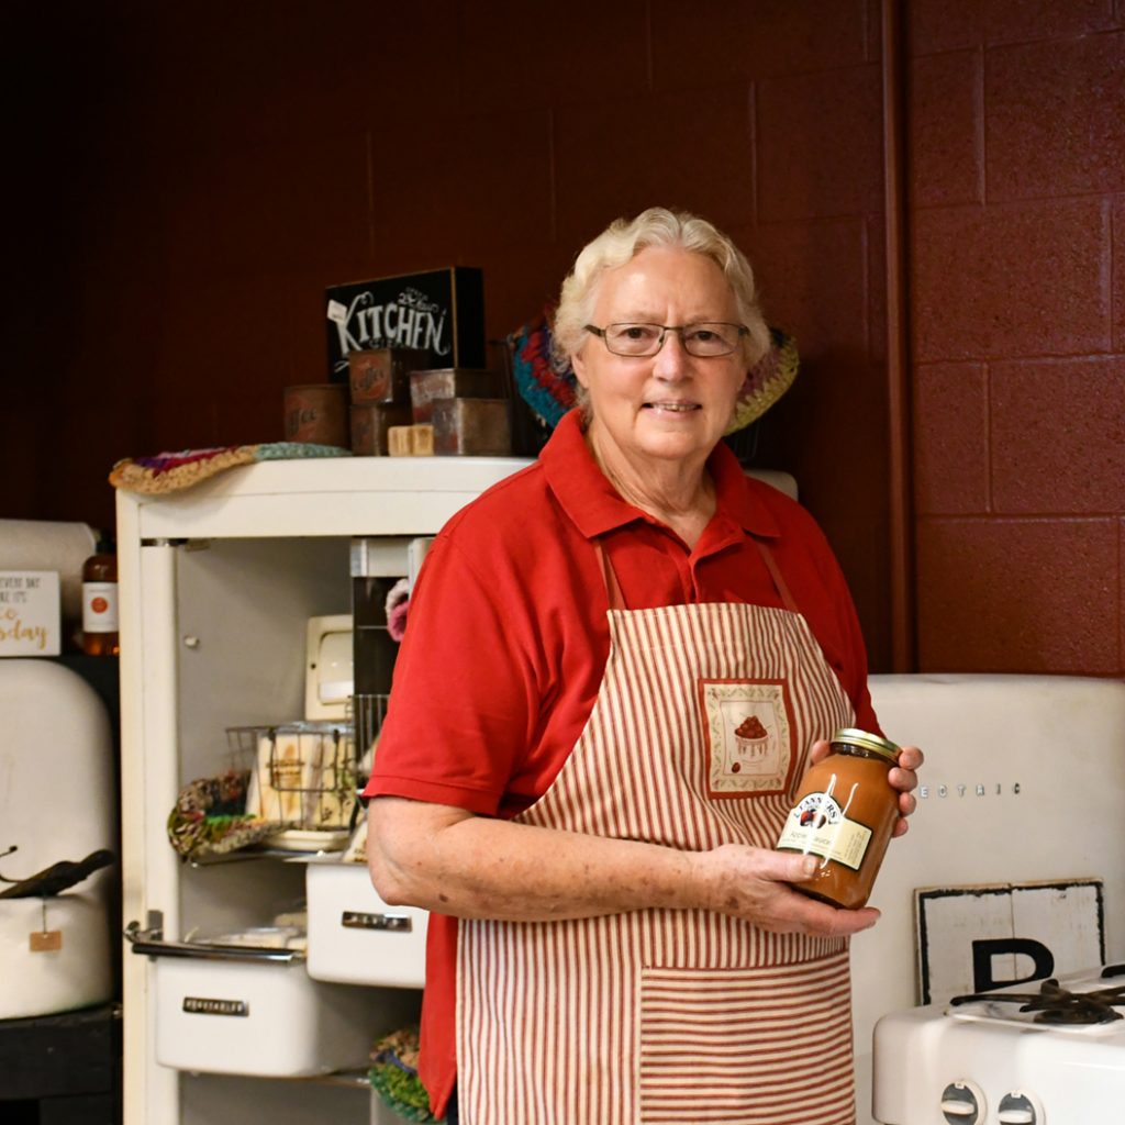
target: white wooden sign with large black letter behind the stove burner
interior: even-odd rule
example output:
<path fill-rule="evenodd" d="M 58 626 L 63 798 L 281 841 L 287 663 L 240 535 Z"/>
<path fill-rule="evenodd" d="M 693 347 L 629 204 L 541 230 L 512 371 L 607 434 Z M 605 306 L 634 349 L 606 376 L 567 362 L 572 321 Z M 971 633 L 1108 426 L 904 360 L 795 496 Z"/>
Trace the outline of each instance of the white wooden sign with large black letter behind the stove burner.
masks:
<path fill-rule="evenodd" d="M 915 892 L 921 1004 L 1105 962 L 1099 879 Z"/>

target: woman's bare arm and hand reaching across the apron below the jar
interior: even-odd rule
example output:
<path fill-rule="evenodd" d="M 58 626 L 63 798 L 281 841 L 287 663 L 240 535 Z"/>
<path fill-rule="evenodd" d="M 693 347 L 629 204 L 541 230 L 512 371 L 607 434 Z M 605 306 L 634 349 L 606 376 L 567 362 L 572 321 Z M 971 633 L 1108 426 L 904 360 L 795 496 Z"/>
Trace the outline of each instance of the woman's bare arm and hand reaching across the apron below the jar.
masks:
<path fill-rule="evenodd" d="M 854 934 L 879 911 L 837 910 L 788 884 L 816 861 L 727 844 L 683 852 L 478 817 L 405 798 L 371 801 L 368 862 L 380 897 L 461 918 L 547 921 L 649 907 L 705 909 L 763 929 Z"/>

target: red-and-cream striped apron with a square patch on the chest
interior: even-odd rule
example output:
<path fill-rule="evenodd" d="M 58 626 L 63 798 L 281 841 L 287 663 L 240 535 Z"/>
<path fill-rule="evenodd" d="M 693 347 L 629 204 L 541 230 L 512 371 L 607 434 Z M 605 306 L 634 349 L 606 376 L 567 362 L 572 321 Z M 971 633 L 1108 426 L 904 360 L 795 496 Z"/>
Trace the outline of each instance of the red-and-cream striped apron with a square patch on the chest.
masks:
<path fill-rule="evenodd" d="M 854 721 L 764 544 L 785 609 L 623 609 L 559 775 L 515 819 L 706 850 L 773 848 L 809 747 Z M 462 1125 L 852 1125 L 846 939 L 703 910 L 462 920 Z"/>

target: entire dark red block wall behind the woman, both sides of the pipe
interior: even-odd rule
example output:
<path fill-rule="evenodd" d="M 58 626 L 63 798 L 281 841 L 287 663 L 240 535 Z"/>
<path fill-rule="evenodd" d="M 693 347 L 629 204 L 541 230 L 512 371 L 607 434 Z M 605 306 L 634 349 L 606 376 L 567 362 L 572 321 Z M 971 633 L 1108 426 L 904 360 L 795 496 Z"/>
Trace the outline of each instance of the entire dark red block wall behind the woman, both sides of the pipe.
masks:
<path fill-rule="evenodd" d="M 798 339 L 755 459 L 889 667 L 880 10 L 6 6 L 0 515 L 109 526 L 116 459 L 278 440 L 327 285 L 478 266 L 500 340 L 611 218 L 686 207 Z M 902 24 L 919 666 L 1122 675 L 1125 0 Z"/>

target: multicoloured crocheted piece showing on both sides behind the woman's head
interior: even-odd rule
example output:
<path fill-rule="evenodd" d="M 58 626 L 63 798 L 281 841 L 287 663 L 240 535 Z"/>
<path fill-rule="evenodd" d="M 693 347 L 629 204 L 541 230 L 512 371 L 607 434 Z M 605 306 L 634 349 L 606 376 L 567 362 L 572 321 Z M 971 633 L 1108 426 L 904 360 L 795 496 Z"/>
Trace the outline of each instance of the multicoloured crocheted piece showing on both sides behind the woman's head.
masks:
<path fill-rule="evenodd" d="M 554 430 L 576 402 L 577 379 L 569 364 L 560 367 L 551 356 L 548 306 L 530 323 L 507 336 L 512 372 L 520 397 L 534 415 Z M 770 330 L 771 348 L 750 368 L 739 392 L 727 433 L 735 433 L 760 417 L 796 378 L 800 360 L 796 341 L 781 328 Z"/>

